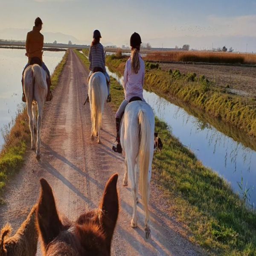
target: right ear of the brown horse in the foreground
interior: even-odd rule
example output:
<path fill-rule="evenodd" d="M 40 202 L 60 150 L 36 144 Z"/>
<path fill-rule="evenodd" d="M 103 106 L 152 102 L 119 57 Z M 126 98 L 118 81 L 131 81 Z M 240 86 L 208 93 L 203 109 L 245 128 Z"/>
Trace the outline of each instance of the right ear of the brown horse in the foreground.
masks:
<path fill-rule="evenodd" d="M 105 186 L 102 202 L 100 204 L 100 209 L 103 211 L 102 226 L 106 233 L 109 251 L 119 212 L 119 199 L 116 189 L 117 179 L 117 173 L 110 177 L 108 183 Z"/>

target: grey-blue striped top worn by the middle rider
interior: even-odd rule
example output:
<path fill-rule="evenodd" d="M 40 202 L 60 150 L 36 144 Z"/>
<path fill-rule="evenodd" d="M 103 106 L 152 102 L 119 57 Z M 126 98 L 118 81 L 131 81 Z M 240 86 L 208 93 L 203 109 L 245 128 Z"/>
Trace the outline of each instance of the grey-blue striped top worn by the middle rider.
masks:
<path fill-rule="evenodd" d="M 90 46 L 89 61 L 89 70 L 93 71 L 95 67 L 101 67 L 104 70 L 104 72 L 106 72 L 104 48 L 101 43 Z"/>

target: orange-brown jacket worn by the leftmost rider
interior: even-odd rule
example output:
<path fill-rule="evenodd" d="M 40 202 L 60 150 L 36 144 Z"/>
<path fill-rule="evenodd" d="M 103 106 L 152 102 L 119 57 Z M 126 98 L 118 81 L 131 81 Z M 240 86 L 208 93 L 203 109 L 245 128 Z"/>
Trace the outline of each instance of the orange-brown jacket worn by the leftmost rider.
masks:
<path fill-rule="evenodd" d="M 43 45 L 44 36 L 40 33 L 38 27 L 33 26 L 32 31 L 28 32 L 26 38 L 26 52 L 29 57 L 29 61 L 32 57 L 38 57 L 43 61 Z"/>

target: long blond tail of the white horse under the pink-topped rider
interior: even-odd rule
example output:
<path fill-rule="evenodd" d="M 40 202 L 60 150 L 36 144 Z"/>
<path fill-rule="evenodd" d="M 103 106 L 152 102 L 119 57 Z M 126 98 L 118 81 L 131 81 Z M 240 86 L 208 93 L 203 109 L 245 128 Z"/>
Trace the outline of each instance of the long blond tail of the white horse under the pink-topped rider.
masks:
<path fill-rule="evenodd" d="M 140 164 L 140 192 L 142 195 L 142 201 L 145 207 L 146 218 L 149 219 L 148 210 L 148 170 L 150 162 L 150 144 L 151 144 L 151 127 L 148 117 L 143 110 L 138 113 L 139 125 L 140 125 L 140 146 L 139 146 L 139 164 Z"/>

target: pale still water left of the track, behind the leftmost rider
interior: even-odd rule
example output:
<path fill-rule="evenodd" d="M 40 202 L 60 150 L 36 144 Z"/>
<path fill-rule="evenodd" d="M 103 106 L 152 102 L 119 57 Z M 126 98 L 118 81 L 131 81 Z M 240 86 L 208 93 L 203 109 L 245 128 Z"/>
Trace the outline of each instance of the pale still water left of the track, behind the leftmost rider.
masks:
<path fill-rule="evenodd" d="M 44 51 L 43 60 L 51 74 L 64 53 Z M 23 105 L 21 74 L 26 62 L 25 49 L 0 49 L 0 129 L 15 118 L 17 108 Z M 0 148 L 2 145 L 1 133 Z"/>

